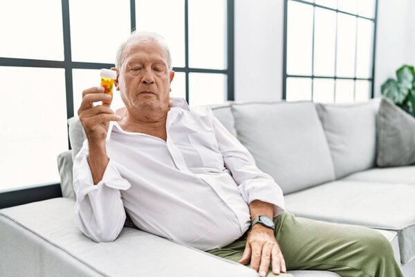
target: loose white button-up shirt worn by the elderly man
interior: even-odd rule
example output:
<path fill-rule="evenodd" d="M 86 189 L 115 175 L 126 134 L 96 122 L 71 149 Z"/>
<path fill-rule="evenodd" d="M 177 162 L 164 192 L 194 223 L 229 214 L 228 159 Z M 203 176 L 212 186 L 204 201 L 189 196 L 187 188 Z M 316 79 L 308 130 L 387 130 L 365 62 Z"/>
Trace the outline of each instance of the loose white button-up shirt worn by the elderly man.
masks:
<path fill-rule="evenodd" d="M 248 230 L 253 200 L 273 204 L 274 216 L 282 212 L 281 188 L 209 107 L 171 98 L 166 131 L 164 141 L 111 122 L 109 163 L 96 186 L 84 141 L 73 164 L 75 224 L 89 238 L 115 240 L 127 211 L 139 229 L 207 251 Z"/>

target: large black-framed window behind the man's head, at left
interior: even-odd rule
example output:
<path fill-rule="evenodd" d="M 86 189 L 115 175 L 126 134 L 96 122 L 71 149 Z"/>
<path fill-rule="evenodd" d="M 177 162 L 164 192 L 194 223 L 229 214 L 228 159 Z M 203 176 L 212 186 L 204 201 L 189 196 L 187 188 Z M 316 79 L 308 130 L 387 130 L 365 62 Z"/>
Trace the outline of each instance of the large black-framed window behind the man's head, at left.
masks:
<path fill-rule="evenodd" d="M 39 10 L 39 5 L 48 7 Z M 25 8 L 21 8 L 25 7 Z M 37 10 L 33 13 L 31 11 Z M 0 17 L 0 191 L 59 183 L 66 120 L 100 82 L 131 30 L 163 35 L 176 71 L 171 96 L 233 100 L 234 0 L 10 1 Z M 111 108 L 122 107 L 115 95 Z"/>

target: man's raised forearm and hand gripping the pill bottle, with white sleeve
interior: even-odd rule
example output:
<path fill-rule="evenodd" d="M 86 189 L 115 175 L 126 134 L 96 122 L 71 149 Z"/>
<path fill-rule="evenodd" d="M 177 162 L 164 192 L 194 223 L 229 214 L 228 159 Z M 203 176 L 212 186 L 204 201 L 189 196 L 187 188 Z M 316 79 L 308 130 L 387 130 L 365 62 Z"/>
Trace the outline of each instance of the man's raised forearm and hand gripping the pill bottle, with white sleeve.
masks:
<path fill-rule="evenodd" d="M 75 225 L 95 242 L 110 242 L 120 234 L 126 218 L 120 190 L 131 186 L 106 150 L 109 121 L 120 117 L 106 105 L 93 105 L 108 99 L 102 87 L 82 92 L 78 116 L 88 139 L 73 161 Z"/>

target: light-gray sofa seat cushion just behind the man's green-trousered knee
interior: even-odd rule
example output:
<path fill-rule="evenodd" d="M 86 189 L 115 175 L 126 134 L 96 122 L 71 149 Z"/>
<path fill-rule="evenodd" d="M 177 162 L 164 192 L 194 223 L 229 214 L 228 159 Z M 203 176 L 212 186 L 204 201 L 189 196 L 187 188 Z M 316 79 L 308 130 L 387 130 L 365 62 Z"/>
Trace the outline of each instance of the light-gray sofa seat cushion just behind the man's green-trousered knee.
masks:
<path fill-rule="evenodd" d="M 286 210 L 326 222 L 396 231 L 400 260 L 415 256 L 415 186 L 333 181 L 286 195 Z"/>

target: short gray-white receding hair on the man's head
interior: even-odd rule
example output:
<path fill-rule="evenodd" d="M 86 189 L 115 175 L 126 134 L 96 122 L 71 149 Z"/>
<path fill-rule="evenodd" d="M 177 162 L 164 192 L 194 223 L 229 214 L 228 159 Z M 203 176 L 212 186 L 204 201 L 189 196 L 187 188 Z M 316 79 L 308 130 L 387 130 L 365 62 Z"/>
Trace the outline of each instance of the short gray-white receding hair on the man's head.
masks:
<path fill-rule="evenodd" d="M 167 46 L 167 42 L 165 38 L 158 33 L 151 33 L 151 32 L 136 32 L 134 31 L 131 35 L 127 38 L 125 42 L 118 47 L 117 55 L 116 55 L 116 68 L 120 69 L 122 62 L 124 62 L 124 55 L 125 50 L 130 42 L 139 42 L 140 40 L 154 40 L 160 44 L 161 48 L 167 54 L 167 66 L 169 66 L 169 70 L 172 70 L 172 55 L 170 55 L 169 46 Z"/>

